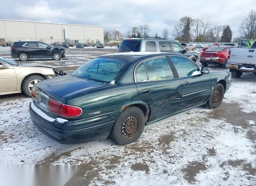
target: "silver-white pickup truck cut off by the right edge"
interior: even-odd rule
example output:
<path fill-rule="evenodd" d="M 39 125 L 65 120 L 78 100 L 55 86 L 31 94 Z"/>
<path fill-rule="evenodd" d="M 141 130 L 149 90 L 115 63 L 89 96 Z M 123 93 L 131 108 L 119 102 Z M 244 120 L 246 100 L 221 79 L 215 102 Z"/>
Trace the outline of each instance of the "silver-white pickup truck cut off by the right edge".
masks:
<path fill-rule="evenodd" d="M 256 75 L 256 40 L 240 40 L 238 48 L 230 48 L 226 67 L 230 68 L 232 77 L 241 77 L 243 72 L 253 72 Z"/>

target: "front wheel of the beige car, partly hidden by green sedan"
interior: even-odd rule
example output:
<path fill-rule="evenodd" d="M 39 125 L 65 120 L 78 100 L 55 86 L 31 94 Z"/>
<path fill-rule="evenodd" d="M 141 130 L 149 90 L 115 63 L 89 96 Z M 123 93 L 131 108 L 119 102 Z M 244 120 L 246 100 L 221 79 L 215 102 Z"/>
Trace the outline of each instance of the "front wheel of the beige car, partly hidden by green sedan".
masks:
<path fill-rule="evenodd" d="M 31 97 L 31 91 L 34 84 L 38 83 L 39 81 L 43 81 L 44 78 L 39 75 L 30 75 L 24 79 L 22 83 L 22 91 L 29 97 Z"/>

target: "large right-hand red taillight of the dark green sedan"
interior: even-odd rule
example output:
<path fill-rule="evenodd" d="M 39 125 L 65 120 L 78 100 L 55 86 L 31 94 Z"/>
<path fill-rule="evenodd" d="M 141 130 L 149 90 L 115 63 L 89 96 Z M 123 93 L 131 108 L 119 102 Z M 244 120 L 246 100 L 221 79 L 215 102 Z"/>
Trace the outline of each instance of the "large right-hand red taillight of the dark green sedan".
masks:
<path fill-rule="evenodd" d="M 48 100 L 48 110 L 63 117 L 77 117 L 82 114 L 80 107 L 65 105 L 52 99 Z"/>

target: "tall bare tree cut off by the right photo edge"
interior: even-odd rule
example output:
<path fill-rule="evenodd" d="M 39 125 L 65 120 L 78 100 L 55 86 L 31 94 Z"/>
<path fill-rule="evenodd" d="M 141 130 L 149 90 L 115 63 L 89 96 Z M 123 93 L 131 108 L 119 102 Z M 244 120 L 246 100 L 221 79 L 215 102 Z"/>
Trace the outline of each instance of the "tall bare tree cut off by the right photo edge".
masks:
<path fill-rule="evenodd" d="M 250 10 L 240 25 L 240 33 L 246 39 L 256 38 L 256 10 Z"/>

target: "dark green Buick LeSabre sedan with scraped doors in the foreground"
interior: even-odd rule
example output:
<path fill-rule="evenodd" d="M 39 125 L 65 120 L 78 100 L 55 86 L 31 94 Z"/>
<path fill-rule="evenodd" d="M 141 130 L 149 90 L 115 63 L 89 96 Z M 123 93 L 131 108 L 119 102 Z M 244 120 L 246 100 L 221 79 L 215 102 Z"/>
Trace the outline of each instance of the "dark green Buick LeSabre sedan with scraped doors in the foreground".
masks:
<path fill-rule="evenodd" d="M 106 139 L 124 145 L 144 126 L 199 105 L 217 108 L 231 85 L 224 71 L 209 72 L 177 53 L 102 55 L 71 75 L 34 85 L 34 125 L 61 143 Z"/>

